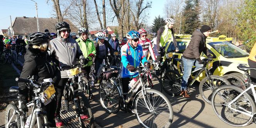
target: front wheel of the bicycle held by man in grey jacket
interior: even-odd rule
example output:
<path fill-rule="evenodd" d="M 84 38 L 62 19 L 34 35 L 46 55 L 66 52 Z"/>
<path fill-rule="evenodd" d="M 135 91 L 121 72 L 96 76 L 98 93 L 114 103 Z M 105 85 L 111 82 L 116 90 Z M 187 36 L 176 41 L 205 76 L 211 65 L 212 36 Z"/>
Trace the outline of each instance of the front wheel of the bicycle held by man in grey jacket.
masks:
<path fill-rule="evenodd" d="M 83 92 L 76 92 L 74 94 L 74 104 L 76 106 L 79 125 L 81 125 L 82 128 L 93 128 L 93 113 L 91 112 L 89 100 L 84 96 Z"/>

